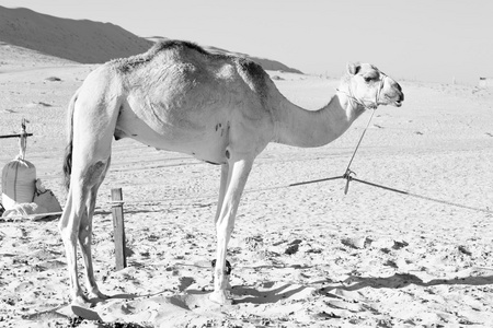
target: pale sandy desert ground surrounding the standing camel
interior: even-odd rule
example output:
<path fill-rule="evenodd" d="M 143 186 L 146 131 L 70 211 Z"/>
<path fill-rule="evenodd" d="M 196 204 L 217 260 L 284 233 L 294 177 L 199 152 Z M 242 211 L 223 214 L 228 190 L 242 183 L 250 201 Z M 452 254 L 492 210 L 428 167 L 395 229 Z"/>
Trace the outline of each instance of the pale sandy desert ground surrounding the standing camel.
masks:
<path fill-rule="evenodd" d="M 12 54 L 0 65 L 0 134 L 30 121 L 26 157 L 64 203 L 66 107 L 94 66 L 36 58 L 33 67 Z M 309 109 L 337 85 L 272 74 Z M 94 218 L 96 278 L 114 298 L 69 306 L 57 220 L 0 222 L 0 326 L 491 327 L 492 91 L 400 82 L 404 105 L 375 114 L 352 166 L 356 177 L 482 211 L 358 183 L 344 196 L 343 180 L 288 187 L 343 174 L 369 114 L 323 148 L 272 144 L 253 168 L 229 247 L 234 303 L 218 306 L 207 293 L 219 168 L 123 140 Z M 0 149 L 3 166 L 16 140 L 0 140 Z M 128 267 L 121 271 L 108 206 L 115 187 L 126 201 Z"/>

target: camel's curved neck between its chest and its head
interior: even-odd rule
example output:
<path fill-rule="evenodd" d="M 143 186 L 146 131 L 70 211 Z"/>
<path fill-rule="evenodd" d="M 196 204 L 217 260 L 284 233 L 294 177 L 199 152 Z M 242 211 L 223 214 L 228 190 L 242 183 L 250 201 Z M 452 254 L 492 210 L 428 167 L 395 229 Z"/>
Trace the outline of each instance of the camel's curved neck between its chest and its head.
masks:
<path fill-rule="evenodd" d="M 365 109 L 340 92 L 319 110 L 303 109 L 284 96 L 276 110 L 275 142 L 295 147 L 320 147 L 342 136 Z"/>

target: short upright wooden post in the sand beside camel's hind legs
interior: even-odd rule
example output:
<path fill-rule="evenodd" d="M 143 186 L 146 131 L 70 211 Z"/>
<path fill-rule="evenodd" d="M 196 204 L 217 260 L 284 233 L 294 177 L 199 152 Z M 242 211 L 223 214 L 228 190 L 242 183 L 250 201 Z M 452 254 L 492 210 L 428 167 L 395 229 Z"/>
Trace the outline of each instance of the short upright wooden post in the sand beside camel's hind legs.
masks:
<path fill-rule="evenodd" d="M 112 202 L 116 271 L 118 271 L 127 267 L 127 258 L 125 256 L 125 224 L 123 218 L 122 188 L 112 189 Z"/>

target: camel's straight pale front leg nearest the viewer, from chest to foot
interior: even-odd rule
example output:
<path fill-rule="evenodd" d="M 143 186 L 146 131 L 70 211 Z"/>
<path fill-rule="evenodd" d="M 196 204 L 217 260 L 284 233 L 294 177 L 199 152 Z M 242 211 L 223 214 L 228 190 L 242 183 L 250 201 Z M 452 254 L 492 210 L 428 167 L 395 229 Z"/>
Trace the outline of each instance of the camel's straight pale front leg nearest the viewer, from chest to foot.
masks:
<path fill-rule="evenodd" d="M 214 292 L 209 296 L 211 301 L 219 304 L 226 304 L 228 302 L 226 289 L 228 286 L 229 274 L 226 269 L 226 251 L 231 233 L 234 229 L 234 216 L 237 214 L 238 204 L 240 203 L 241 194 L 246 184 L 250 171 L 252 169 L 253 160 L 238 160 L 231 161 L 230 163 L 225 199 L 222 201 L 220 214 L 216 219 L 216 268 L 214 271 Z M 225 173 L 225 166 L 222 173 Z M 225 177 L 221 177 L 221 179 Z"/>

